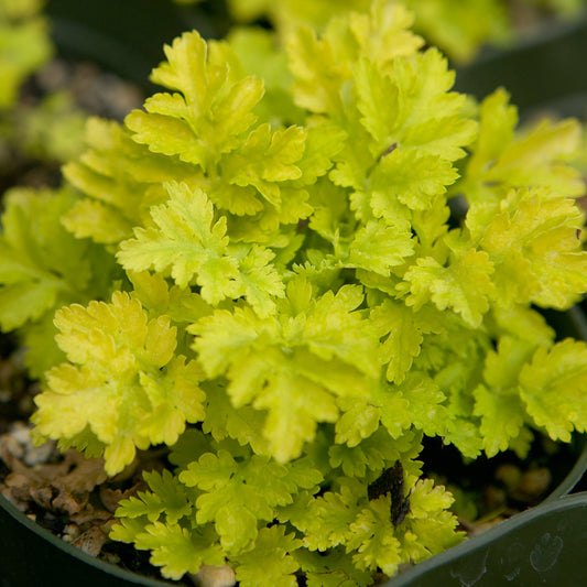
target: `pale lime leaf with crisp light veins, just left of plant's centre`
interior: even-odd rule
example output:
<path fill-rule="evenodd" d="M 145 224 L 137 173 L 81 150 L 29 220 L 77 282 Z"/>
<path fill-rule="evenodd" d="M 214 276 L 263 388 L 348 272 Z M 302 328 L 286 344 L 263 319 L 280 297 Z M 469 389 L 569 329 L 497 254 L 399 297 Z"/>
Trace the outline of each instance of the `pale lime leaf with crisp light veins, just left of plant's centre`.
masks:
<path fill-rule="evenodd" d="M 180 287 L 197 283 L 209 304 L 243 295 L 260 314 L 271 313 L 271 296 L 283 295 L 281 280 L 269 264 L 273 253 L 262 247 L 229 251 L 226 217 L 215 220 L 214 206 L 202 189 L 175 183 L 166 189 L 170 200 L 151 209 L 156 228 L 137 228 L 134 239 L 120 244 L 117 257 L 122 267 L 171 270 Z"/>

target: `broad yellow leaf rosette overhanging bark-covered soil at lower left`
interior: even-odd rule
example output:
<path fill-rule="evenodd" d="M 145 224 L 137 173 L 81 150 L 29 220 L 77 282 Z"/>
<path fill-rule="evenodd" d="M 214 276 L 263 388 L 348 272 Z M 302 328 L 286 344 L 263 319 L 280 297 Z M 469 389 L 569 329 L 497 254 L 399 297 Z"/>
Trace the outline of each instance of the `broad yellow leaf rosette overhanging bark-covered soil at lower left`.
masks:
<path fill-rule="evenodd" d="M 70 362 L 47 373 L 47 389 L 35 399 L 37 435 L 75 438 L 89 426 L 106 445 L 106 470 L 113 475 L 137 447 L 171 445 L 186 422 L 204 418 L 199 367 L 174 357 L 167 317 L 149 320 L 137 300 L 115 292 L 110 304 L 58 311 L 55 324 Z"/>

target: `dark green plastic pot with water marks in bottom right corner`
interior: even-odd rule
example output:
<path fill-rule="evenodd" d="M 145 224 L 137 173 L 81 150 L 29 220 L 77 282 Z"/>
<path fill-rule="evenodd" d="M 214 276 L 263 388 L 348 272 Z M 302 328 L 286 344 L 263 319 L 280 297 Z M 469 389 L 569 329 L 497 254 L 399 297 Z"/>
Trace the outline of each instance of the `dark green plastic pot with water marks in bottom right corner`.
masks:
<path fill-rule="evenodd" d="M 587 492 L 519 513 L 439 554 L 389 587 L 548 587 L 587 584 Z"/>

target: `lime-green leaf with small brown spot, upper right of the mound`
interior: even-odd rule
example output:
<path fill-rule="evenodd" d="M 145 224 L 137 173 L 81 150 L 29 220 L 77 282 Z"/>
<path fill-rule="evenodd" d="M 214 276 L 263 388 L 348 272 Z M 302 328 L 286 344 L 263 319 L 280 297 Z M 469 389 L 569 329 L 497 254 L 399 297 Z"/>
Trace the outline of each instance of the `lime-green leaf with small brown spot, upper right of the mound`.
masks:
<path fill-rule="evenodd" d="M 463 146 L 475 138 L 476 124 L 460 115 L 464 98 L 448 93 L 453 75 L 435 51 L 395 59 L 390 74 L 363 61 L 359 73 L 357 106 L 378 157 L 371 207 L 395 224 L 399 207 L 430 208 L 456 181 L 452 162 L 465 155 Z M 394 97 L 389 107 L 372 101 L 377 91 Z M 379 120 L 382 116 L 387 119 Z"/>

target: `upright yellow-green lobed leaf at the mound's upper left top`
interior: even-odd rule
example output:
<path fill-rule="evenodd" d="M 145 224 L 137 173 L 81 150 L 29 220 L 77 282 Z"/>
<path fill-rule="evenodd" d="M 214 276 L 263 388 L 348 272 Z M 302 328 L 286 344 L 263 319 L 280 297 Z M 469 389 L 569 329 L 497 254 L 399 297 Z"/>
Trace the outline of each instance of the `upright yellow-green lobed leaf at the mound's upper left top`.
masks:
<path fill-rule="evenodd" d="M 263 84 L 252 76 L 238 77 L 239 64 L 229 46 L 214 41 L 208 46 L 196 31 L 164 50 L 167 61 L 153 69 L 151 79 L 178 94 L 155 94 L 144 105 L 146 112 L 134 110 L 126 124 L 151 151 L 209 171 L 254 123 L 252 109 Z"/>

